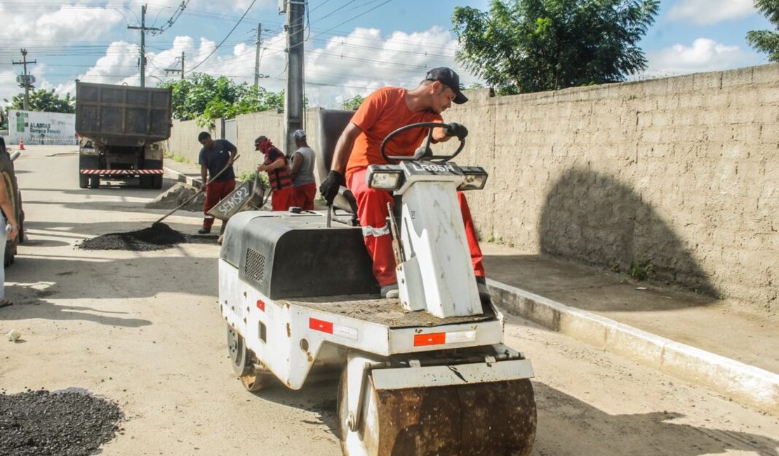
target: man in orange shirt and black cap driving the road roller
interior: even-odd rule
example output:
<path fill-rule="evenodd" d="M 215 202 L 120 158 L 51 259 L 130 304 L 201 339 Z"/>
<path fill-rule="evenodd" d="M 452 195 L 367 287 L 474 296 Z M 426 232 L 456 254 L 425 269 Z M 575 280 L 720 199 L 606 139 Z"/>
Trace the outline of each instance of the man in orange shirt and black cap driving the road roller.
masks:
<path fill-rule="evenodd" d="M 319 191 L 330 205 L 339 186 L 346 184 L 357 199 L 357 216 L 365 237 L 365 247 L 373 260 L 373 275 L 382 287 L 382 297 L 398 296 L 392 239 L 390 227 L 386 224 L 387 203 L 393 205 L 394 200 L 389 191 L 368 188 L 365 182 L 368 165 L 387 163 L 380 152 L 380 146 L 386 136 L 397 128 L 418 122 L 442 122 L 441 113 L 451 107 L 453 102 L 461 104 L 467 100 L 460 93 L 460 76 L 456 72 L 451 68 L 433 68 L 415 89 L 384 87 L 370 94 L 336 143 L 330 174 L 319 186 Z M 445 128 L 434 128 L 433 140 L 445 142 L 453 136 L 464 139 L 467 134 L 463 125 L 451 123 Z M 385 152 L 390 156 L 414 155 L 426 137 L 425 128 L 408 130 L 396 135 L 386 145 Z M 481 249 L 471 220 L 471 211 L 461 192 L 457 193 L 457 197 L 463 212 L 479 294 L 485 295 L 485 271 L 481 264 Z"/>

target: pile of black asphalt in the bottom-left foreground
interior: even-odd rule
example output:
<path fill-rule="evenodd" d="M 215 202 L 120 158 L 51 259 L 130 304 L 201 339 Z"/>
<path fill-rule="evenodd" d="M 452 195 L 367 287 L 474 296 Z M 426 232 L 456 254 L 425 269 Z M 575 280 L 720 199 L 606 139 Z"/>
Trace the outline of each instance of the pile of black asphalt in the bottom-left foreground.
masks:
<path fill-rule="evenodd" d="M 121 432 L 123 417 L 117 405 L 80 388 L 0 393 L 0 454 L 97 454 Z"/>

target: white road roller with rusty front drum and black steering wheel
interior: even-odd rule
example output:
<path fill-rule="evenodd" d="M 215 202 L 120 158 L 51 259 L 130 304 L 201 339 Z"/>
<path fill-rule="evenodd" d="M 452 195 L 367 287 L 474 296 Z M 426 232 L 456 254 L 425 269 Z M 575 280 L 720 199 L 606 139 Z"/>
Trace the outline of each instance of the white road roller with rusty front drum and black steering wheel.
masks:
<path fill-rule="evenodd" d="M 385 144 L 409 128 L 441 126 L 407 125 Z M 232 368 L 249 391 L 298 390 L 337 372 L 347 456 L 527 455 L 533 368 L 503 344 L 504 317 L 478 292 L 457 202 L 457 191 L 484 188 L 487 173 L 453 162 L 464 139 L 448 155 L 435 155 L 431 142 L 428 133 L 411 156 L 386 156 L 382 145 L 391 164 L 368 167 L 368 185 L 395 200 L 397 298 L 379 293 L 345 188 L 342 209 L 231 217 L 219 310 Z"/>

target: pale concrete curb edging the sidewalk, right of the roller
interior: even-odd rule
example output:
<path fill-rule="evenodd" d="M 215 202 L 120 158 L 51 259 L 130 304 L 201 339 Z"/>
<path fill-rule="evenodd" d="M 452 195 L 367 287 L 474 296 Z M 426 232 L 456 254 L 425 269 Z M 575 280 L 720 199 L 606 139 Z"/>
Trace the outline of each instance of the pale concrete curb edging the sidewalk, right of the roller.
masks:
<path fill-rule="evenodd" d="M 494 280 L 498 307 L 583 342 L 625 356 L 743 405 L 779 416 L 779 374 L 674 342 Z"/>

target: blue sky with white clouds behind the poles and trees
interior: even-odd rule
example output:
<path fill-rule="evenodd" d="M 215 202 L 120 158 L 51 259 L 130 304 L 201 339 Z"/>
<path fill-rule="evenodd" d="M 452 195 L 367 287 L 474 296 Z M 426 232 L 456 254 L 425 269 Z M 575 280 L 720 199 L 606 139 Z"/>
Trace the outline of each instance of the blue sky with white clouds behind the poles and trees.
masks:
<path fill-rule="evenodd" d="M 278 0 L 158 0 L 148 3 L 146 85 L 178 77 L 165 69 L 185 53 L 192 69 L 253 82 L 257 24 L 262 24 L 260 80 L 284 88 L 284 16 Z M 182 13 L 172 22 L 181 5 Z M 338 107 L 354 95 L 386 85 L 414 86 L 426 68 L 448 65 L 465 84 L 478 78 L 454 61 L 450 31 L 455 6 L 488 9 L 488 0 L 308 0 L 305 90 L 312 106 Z M 74 80 L 139 84 L 141 4 L 96 0 L 17 0 L 0 3 L 0 104 L 22 89 L 19 49 L 38 88 L 73 92 Z M 244 16 L 245 15 L 245 16 Z M 244 16 L 241 20 L 241 16 Z M 240 22 L 239 22 L 240 20 Z M 233 30 L 234 29 L 234 30 Z M 662 0 L 654 26 L 641 43 L 650 67 L 640 77 L 681 75 L 767 63 L 745 35 L 774 27 L 752 0 Z M 232 30 L 232 31 L 231 31 Z M 224 44 L 219 44 L 224 40 Z M 212 54 L 213 52 L 213 54 Z M 211 54 L 209 58 L 206 56 Z"/>

